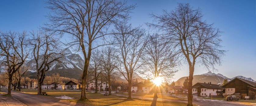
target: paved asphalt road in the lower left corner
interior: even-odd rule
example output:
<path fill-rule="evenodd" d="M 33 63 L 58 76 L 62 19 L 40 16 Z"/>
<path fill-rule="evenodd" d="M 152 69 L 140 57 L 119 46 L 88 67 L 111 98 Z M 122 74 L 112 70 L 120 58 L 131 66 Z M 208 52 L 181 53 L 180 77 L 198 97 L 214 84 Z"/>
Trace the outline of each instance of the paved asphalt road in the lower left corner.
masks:
<path fill-rule="evenodd" d="M 78 104 L 56 101 L 16 91 L 12 91 L 12 96 L 28 106 L 81 106 Z"/>

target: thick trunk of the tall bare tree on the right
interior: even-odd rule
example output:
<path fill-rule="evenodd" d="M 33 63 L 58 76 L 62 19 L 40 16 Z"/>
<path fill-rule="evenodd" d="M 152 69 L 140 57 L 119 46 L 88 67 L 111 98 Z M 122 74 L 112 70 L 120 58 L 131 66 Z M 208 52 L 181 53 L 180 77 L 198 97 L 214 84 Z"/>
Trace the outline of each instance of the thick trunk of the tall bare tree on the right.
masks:
<path fill-rule="evenodd" d="M 187 95 L 187 106 L 193 106 L 193 94 L 192 94 L 192 81 L 194 75 L 194 67 L 189 66 L 189 81 L 188 81 L 188 95 Z"/>

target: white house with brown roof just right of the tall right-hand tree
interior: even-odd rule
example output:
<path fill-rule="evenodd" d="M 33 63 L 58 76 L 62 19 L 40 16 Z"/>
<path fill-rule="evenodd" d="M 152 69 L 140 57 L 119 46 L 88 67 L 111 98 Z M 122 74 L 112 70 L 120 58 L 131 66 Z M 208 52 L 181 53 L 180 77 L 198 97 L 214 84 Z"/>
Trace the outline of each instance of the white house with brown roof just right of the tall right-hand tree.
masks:
<path fill-rule="evenodd" d="M 223 90 L 219 84 L 210 83 L 199 83 L 197 82 L 192 86 L 192 93 L 194 96 L 223 96 Z"/>

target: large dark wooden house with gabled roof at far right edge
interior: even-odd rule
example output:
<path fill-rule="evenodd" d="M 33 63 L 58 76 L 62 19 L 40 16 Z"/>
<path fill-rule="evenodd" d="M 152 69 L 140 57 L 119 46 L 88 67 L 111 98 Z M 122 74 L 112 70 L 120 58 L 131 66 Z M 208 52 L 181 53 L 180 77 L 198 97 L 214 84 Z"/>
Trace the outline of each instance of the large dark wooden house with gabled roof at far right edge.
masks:
<path fill-rule="evenodd" d="M 236 94 L 242 99 L 249 96 L 250 99 L 255 100 L 256 97 L 256 82 L 248 81 L 242 78 L 234 78 L 225 85 L 225 95 Z"/>

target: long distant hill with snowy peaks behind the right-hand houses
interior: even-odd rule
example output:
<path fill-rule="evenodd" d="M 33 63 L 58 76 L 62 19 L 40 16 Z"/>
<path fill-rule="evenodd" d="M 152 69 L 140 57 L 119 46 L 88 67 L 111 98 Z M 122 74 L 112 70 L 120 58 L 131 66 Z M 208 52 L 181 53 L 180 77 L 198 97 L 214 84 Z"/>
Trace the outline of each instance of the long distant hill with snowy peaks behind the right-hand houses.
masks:
<path fill-rule="evenodd" d="M 253 79 L 251 78 L 246 78 L 244 76 L 236 76 L 238 78 L 242 78 L 242 79 L 246 79 L 246 80 L 249 80 L 249 81 L 253 81 L 253 82 L 256 82 L 254 81 Z M 222 75 L 222 74 L 215 74 L 215 73 L 212 73 L 212 72 L 207 72 L 207 73 L 204 73 L 204 74 L 201 74 L 201 75 L 194 75 L 193 76 L 193 85 L 196 84 L 197 82 L 201 82 L 201 83 L 208 83 L 208 82 L 211 82 L 212 84 L 222 84 L 224 79 L 227 79 L 228 81 L 236 78 L 236 77 L 233 77 L 233 78 L 227 78 L 226 76 Z M 184 80 L 186 79 L 187 77 L 182 77 L 180 79 L 178 79 L 175 84 L 176 86 L 183 86 L 183 82 Z"/>

